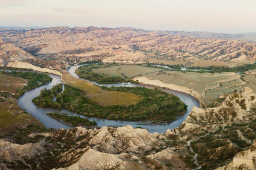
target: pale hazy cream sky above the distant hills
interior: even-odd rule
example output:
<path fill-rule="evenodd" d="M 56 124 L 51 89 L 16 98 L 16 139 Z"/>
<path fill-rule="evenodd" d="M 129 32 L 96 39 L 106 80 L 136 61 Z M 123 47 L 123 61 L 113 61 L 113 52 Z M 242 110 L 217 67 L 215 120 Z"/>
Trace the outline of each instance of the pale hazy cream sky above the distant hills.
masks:
<path fill-rule="evenodd" d="M 0 0 L 0 26 L 256 32 L 255 0 Z"/>

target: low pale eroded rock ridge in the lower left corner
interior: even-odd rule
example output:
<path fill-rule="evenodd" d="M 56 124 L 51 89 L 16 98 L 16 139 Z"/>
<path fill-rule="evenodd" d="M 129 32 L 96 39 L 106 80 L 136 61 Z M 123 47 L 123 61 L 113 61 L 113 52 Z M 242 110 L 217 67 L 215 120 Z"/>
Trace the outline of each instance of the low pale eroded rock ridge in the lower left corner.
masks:
<path fill-rule="evenodd" d="M 12 161 L 15 159 L 26 159 L 37 154 L 42 154 L 45 150 L 42 143 L 27 143 L 18 145 L 0 139 L 0 159 Z"/>

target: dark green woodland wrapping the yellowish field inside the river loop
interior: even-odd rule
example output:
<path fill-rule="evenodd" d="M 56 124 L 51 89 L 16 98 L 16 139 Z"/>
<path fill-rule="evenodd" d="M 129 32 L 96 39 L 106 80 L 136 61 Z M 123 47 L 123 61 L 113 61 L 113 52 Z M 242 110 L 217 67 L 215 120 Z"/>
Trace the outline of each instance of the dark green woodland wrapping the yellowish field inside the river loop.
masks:
<path fill-rule="evenodd" d="M 123 91 L 141 95 L 143 98 L 134 105 L 101 106 L 87 98 L 86 91 L 65 84 L 53 86 L 52 89 L 42 89 L 41 94 L 32 101 L 40 107 L 51 107 L 72 111 L 90 117 L 107 118 L 108 120 L 146 121 L 170 123 L 177 120 L 177 115 L 184 114 L 187 105 L 180 98 L 167 94 L 157 88 L 142 87 L 102 87 L 109 91 Z M 56 100 L 53 99 L 56 97 Z"/>

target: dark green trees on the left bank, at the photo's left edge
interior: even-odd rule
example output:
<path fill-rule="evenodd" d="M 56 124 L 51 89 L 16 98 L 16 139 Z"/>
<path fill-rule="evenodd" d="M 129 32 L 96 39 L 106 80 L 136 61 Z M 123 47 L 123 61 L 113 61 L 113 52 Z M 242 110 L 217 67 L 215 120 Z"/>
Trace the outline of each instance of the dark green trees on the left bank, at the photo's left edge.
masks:
<path fill-rule="evenodd" d="M 27 72 L 27 71 L 11 71 L 6 72 L 2 71 L 1 74 L 11 75 L 15 77 L 20 77 L 22 79 L 28 79 L 28 83 L 26 87 L 20 89 L 20 95 L 23 95 L 26 91 L 43 86 L 46 83 L 52 81 L 52 78 L 47 74 L 35 73 L 35 72 Z"/>

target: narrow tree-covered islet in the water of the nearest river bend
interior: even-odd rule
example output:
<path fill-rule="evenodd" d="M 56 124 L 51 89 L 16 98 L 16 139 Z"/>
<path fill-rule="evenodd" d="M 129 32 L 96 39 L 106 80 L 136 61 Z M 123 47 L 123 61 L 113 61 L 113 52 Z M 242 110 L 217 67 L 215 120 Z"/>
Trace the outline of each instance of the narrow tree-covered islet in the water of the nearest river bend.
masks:
<path fill-rule="evenodd" d="M 69 116 L 69 115 L 63 115 L 59 113 L 47 113 L 47 115 L 57 119 L 61 120 L 63 122 L 69 123 L 72 126 L 95 126 L 97 123 L 95 121 L 89 121 L 87 118 L 83 118 L 80 116 Z"/>

